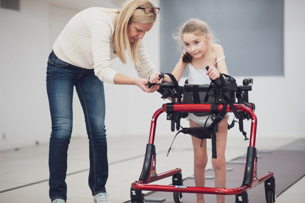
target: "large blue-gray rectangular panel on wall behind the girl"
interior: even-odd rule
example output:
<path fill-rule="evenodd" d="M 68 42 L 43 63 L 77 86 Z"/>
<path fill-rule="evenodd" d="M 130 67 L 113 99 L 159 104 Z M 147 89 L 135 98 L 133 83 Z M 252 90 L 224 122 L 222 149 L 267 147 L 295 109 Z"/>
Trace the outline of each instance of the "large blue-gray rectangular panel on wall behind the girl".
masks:
<path fill-rule="evenodd" d="M 209 24 L 223 46 L 230 75 L 284 74 L 283 0 L 161 0 L 160 8 L 161 72 L 171 72 L 181 55 L 173 30 L 198 18 Z"/>

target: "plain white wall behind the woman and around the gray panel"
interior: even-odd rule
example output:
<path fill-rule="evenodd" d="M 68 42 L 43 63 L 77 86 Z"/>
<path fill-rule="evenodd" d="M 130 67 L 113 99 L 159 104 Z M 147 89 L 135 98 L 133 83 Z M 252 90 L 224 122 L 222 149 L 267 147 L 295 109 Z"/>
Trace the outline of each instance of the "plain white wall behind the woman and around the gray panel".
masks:
<path fill-rule="evenodd" d="M 0 9 L 0 150 L 33 145 L 36 141 L 48 142 L 51 120 L 45 72 L 56 32 L 62 29 L 70 16 L 82 9 L 91 6 L 120 8 L 122 2 L 21 0 L 20 11 Z M 157 0 L 153 2 L 159 5 Z M 257 136 L 305 137 L 302 129 L 305 113 L 302 105 L 304 7 L 302 0 L 284 3 L 284 77 L 253 77 L 253 91 L 249 93 L 249 98 L 256 104 Z M 63 12 L 58 12 L 60 10 Z M 56 12 L 58 15 L 54 16 Z M 161 8 L 161 18 L 162 12 L 165 11 Z M 160 69 L 159 25 L 156 23 L 144 37 L 149 57 L 157 69 Z M 131 63 L 123 65 L 114 59 L 112 65 L 123 74 L 137 77 Z M 241 85 L 243 77 L 236 79 Z M 135 86 L 105 84 L 105 94 L 107 136 L 142 135 L 148 139 L 152 114 L 162 103 L 168 102 L 160 99 L 159 93 L 147 94 Z M 84 116 L 77 97 L 74 98 L 73 108 L 72 136 L 86 136 Z M 188 125 L 185 121 L 182 123 Z M 247 132 L 248 126 L 249 122 L 245 121 Z M 174 134 L 170 132 L 170 121 L 165 119 L 165 113 L 158 120 L 157 134 Z M 230 130 L 229 135 L 241 136 L 238 127 Z"/>

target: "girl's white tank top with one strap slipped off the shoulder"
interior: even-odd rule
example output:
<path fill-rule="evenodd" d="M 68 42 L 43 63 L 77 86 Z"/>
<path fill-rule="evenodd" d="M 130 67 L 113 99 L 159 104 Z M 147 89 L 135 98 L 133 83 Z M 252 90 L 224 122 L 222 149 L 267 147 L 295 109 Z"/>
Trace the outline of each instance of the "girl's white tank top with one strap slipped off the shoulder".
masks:
<path fill-rule="evenodd" d="M 224 59 L 225 56 L 219 58 L 215 63 L 210 66 L 213 66 L 218 61 Z M 191 63 L 188 64 L 188 84 L 210 84 L 210 77 L 206 74 L 206 69 L 196 69 L 192 66 Z"/>

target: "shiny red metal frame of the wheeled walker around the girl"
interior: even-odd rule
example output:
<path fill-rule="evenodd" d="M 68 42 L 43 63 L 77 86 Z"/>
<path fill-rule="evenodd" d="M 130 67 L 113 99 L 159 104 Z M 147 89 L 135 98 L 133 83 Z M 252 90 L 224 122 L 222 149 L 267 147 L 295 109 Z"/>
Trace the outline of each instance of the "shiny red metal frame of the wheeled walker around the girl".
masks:
<path fill-rule="evenodd" d="M 158 116 L 167 111 L 167 107 L 170 105 L 170 111 L 173 112 L 211 112 L 211 104 L 183 104 L 183 103 L 170 103 L 170 104 L 163 104 L 162 108 L 158 109 L 154 115 L 152 116 L 151 126 L 150 126 L 150 134 L 149 134 L 149 142 L 148 144 L 154 144 L 155 139 L 155 132 L 156 132 L 156 122 Z M 204 194 L 223 194 L 223 195 L 238 195 L 247 191 L 260 183 L 263 183 L 266 180 L 271 180 L 270 178 L 274 175 L 273 172 L 268 172 L 263 176 L 257 177 L 257 156 L 256 156 L 256 148 L 255 148 L 255 141 L 256 141 L 256 129 L 257 129 L 257 117 L 253 112 L 254 106 L 251 103 L 248 103 L 248 106 L 244 103 L 237 103 L 233 104 L 237 111 L 246 112 L 252 120 L 251 123 L 251 133 L 250 133 L 250 141 L 249 147 L 246 157 L 246 165 L 245 165 L 245 172 L 244 172 L 244 181 L 241 187 L 236 188 L 211 188 L 211 187 L 191 187 L 191 186 L 180 186 L 177 187 L 175 185 L 153 185 L 148 184 L 152 183 L 156 180 L 161 180 L 163 178 L 173 176 L 179 172 L 181 172 L 180 168 L 173 169 L 164 173 L 157 174 L 155 163 L 156 157 L 152 155 L 150 158 L 145 158 L 145 162 L 143 165 L 143 171 L 145 171 L 145 167 L 149 168 L 149 177 L 148 180 L 142 180 L 141 177 L 138 181 L 135 181 L 131 184 L 131 190 L 139 190 L 139 191 L 164 191 L 164 192 L 178 192 L 178 193 L 204 193 Z M 218 111 L 220 112 L 223 105 L 218 104 Z M 228 105 L 227 112 L 232 112 L 231 107 Z M 146 156 L 146 154 L 145 154 Z M 146 172 L 146 173 L 147 173 Z M 268 183 L 270 185 L 270 183 Z M 274 183 L 275 187 L 275 183 Z M 266 188 L 266 183 L 265 183 Z M 275 190 L 274 188 L 272 188 Z M 266 189 L 265 189 L 266 190 Z M 275 191 L 273 192 L 273 196 L 275 196 Z M 143 194 L 144 195 L 144 194 Z M 266 193 L 267 197 L 267 193 Z M 275 199 L 275 198 L 273 198 Z M 266 198 L 267 200 L 267 198 Z M 267 200 L 268 201 L 268 200 Z M 135 201 L 132 201 L 135 202 Z M 138 201 L 136 201 L 138 202 Z"/>

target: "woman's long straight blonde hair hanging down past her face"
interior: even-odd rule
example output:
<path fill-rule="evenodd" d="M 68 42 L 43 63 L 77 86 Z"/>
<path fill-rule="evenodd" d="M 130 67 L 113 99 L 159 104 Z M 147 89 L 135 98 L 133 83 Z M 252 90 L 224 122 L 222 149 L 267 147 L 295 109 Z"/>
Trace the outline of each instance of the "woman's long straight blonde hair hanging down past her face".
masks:
<path fill-rule="evenodd" d="M 153 12 L 150 14 L 146 14 L 144 10 L 137 9 L 137 7 L 155 8 L 155 5 L 150 0 L 128 0 L 124 3 L 120 10 L 110 11 L 113 13 L 117 13 L 113 33 L 113 41 L 116 48 L 116 53 L 119 59 L 123 63 L 126 63 L 126 46 L 129 57 L 136 65 L 138 65 L 139 63 L 137 53 L 137 44 L 139 40 L 129 42 L 127 34 L 127 25 L 134 22 L 143 24 L 154 23 L 156 22 L 157 17 L 157 14 L 154 14 Z"/>

